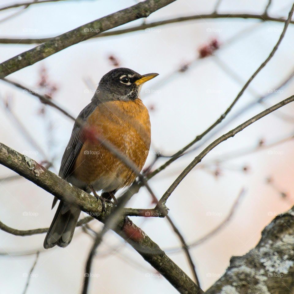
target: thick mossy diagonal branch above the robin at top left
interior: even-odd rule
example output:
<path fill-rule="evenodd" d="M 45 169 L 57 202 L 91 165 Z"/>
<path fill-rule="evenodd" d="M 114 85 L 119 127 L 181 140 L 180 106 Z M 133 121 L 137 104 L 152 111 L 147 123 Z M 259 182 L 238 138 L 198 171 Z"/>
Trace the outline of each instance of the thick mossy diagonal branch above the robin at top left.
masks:
<path fill-rule="evenodd" d="M 31 50 L 25 51 L 0 64 L 0 78 L 32 65 L 56 52 L 59 52 L 81 41 L 90 39 L 97 34 L 126 24 L 139 18 L 148 17 L 154 11 L 174 2 L 175 0 L 146 0 L 129 8 L 101 17 L 86 25 L 75 28 L 60 36 L 52 38 Z"/>

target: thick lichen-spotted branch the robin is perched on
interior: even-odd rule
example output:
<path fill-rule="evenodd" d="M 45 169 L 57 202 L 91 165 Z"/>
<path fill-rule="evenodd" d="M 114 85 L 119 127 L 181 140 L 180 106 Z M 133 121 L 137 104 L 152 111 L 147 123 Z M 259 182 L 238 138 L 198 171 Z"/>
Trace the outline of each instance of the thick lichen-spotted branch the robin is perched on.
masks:
<path fill-rule="evenodd" d="M 89 213 L 101 222 L 104 222 L 105 218 L 111 214 L 111 204 L 106 203 L 106 213 L 102 213 L 101 202 L 97 202 L 94 196 L 72 186 L 51 171 L 37 164 L 34 160 L 2 143 L 0 143 L 0 163 L 32 181 L 58 199 L 70 202 L 72 205 L 79 207 L 82 211 Z M 125 232 L 123 226 L 124 218 L 119 221 L 114 231 L 130 243 L 130 245 L 180 293 L 189 294 L 198 292 L 198 287 L 194 282 L 145 234 L 145 232 L 135 224 L 128 227 L 128 232 Z M 133 233 L 130 234 L 129 232 Z M 134 234 L 134 232 L 136 233 Z M 138 235 L 140 238 L 138 238 Z"/>

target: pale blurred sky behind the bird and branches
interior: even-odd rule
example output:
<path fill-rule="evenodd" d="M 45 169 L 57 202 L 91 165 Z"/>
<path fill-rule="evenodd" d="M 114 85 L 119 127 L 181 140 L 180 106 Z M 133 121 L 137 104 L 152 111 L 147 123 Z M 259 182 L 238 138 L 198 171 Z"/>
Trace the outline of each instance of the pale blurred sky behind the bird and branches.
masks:
<path fill-rule="evenodd" d="M 17 1 L 2 0 L 1 7 L 15 2 Z M 56 36 L 135 3 L 136 1 L 88 0 L 32 5 L 19 16 L 0 23 L 0 37 Z M 214 3 L 204 0 L 178 0 L 152 14 L 146 22 L 209 13 Z M 266 3 L 267 1 L 249 0 L 245 3 L 223 0 L 219 11 L 261 13 Z M 269 13 L 287 16 L 291 4 L 291 1 L 282 4 L 273 1 Z M 0 19 L 16 10 L 0 12 Z M 141 20 L 138 20 L 126 26 L 140 23 Z M 246 28 L 248 32 L 244 33 Z M 247 79 L 269 55 L 282 28 L 282 23 L 259 23 L 256 20 L 243 19 L 164 25 L 157 27 L 157 31 L 140 31 L 79 43 L 11 74 L 8 78 L 37 89 L 39 70 L 45 66 L 48 79 L 58 85 L 54 99 L 70 113 L 77 115 L 92 98 L 84 80 L 90 78 L 94 84 L 98 84 L 100 78 L 113 68 L 107 59 L 109 55 L 116 56 L 121 66 L 141 74 L 157 72 L 160 76 L 144 85 L 141 96 L 149 109 L 154 106 L 154 110 L 150 110 L 152 150 L 171 154 L 193 140 L 226 110 Z M 255 100 L 254 93 L 265 94 L 273 91 L 293 70 L 293 32 L 294 27 L 290 25 L 276 55 L 254 79 L 250 89 L 243 94 L 228 119 Z M 228 40 L 238 34 L 239 38 L 227 44 Z M 176 73 L 172 78 L 168 78 L 183 63 L 194 60 L 198 56 L 197 49 L 214 38 L 220 42 L 216 57 L 197 60 L 185 73 Z M 35 45 L 0 45 L 1 62 L 32 47 Z M 228 75 L 220 64 L 235 72 L 240 81 Z M 292 95 L 293 89 L 293 83 L 290 82 L 282 92 L 273 95 L 266 106 Z M 151 94 L 146 90 L 150 90 Z M 56 156 L 54 163 L 58 171 L 73 122 L 58 111 L 47 109 L 47 118 L 53 124 L 51 136 L 54 140 L 54 146 L 48 150 L 48 123 L 44 123 L 43 117 L 37 114 L 40 103 L 33 96 L 1 82 L 1 99 L 7 95 L 13 96 L 13 112 L 33 138 L 48 152 L 49 157 Z M 262 111 L 266 106 L 257 105 L 238 116 L 213 139 Z M 293 115 L 293 105 L 284 107 L 280 113 Z M 3 107 L 0 109 L 0 120 L 2 143 L 21 153 L 29 152 L 29 155 L 39 162 L 43 160 L 40 153 L 37 154 L 37 150 L 20 134 Z M 202 163 L 205 164 L 209 158 L 221 159 L 222 155 L 232 151 L 254 148 L 260 139 L 271 143 L 287 137 L 291 132 L 291 122 L 285 122 L 277 115 L 271 114 L 220 144 Z M 177 160 L 150 181 L 158 198 L 203 148 L 204 146 Z M 170 216 L 183 232 L 187 243 L 191 243 L 224 220 L 239 191 L 243 187 L 246 190 L 229 224 L 211 239 L 191 250 L 203 289 L 209 288 L 224 273 L 232 255 L 243 255 L 257 244 L 262 229 L 275 214 L 292 207 L 292 150 L 293 141 L 288 141 L 271 149 L 240 156 L 224 163 L 221 166 L 221 175 L 217 178 L 214 176 L 215 168 L 195 168 L 171 194 L 167 202 Z M 151 160 L 150 157 L 148 162 Z M 161 160 L 159 163 L 163 162 Z M 247 173 L 242 171 L 244 166 L 249 167 Z M 13 172 L 0 167 L 0 175 L 13 175 Z M 275 187 L 266 183 L 269 176 L 274 179 Z M 288 194 L 286 199 L 280 197 L 281 190 Z M 14 182 L 0 182 L 0 195 L 0 220 L 5 224 L 24 230 L 50 225 L 55 212 L 51 211 L 51 194 L 25 179 L 19 179 Z M 144 189 L 134 196 L 128 206 L 152 207 L 150 197 Z M 24 216 L 24 212 L 37 215 Z M 132 220 L 161 248 L 179 246 L 178 239 L 164 219 L 144 220 L 133 217 Z M 92 221 L 91 226 L 96 230 L 102 228 L 102 224 L 97 221 Z M 0 236 L 2 253 L 43 249 L 45 237 L 43 234 L 17 237 L 5 232 L 0 232 Z M 78 228 L 68 247 L 41 252 L 34 270 L 37 276 L 32 277 L 27 293 L 80 293 L 85 261 L 91 245 L 90 237 Z M 112 249 L 112 254 L 104 255 Z M 169 256 L 191 276 L 182 251 Z M 1 259 L 0 283 L 3 293 L 21 292 L 26 282 L 25 274 L 31 268 L 35 256 L 2 256 Z M 93 273 L 99 277 L 91 279 L 89 293 L 177 293 L 164 277 L 150 277 L 150 274 L 156 273 L 155 270 L 129 245 L 123 245 L 122 239 L 112 232 L 107 233 L 98 249 Z"/>

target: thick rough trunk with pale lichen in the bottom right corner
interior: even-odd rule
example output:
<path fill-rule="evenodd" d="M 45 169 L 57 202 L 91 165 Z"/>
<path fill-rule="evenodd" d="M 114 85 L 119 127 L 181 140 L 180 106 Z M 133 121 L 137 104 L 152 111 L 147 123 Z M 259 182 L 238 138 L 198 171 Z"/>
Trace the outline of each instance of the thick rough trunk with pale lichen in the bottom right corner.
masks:
<path fill-rule="evenodd" d="M 206 294 L 292 294 L 294 210 L 277 216 L 244 256 L 233 256 L 224 275 Z"/>

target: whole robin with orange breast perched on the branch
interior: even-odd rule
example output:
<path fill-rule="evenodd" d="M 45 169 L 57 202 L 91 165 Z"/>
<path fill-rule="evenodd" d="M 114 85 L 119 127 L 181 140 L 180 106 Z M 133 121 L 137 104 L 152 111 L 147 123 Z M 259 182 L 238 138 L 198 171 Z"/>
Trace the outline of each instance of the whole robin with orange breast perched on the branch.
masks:
<path fill-rule="evenodd" d="M 109 141 L 141 170 L 150 147 L 149 113 L 142 100 L 142 84 L 158 74 L 138 74 L 128 68 L 116 68 L 105 74 L 91 102 L 81 111 L 61 160 L 59 176 L 102 201 L 115 199 L 115 192 L 129 186 L 136 174 L 121 160 L 87 136 L 91 130 Z M 103 193 L 99 197 L 96 191 Z M 54 199 L 52 208 L 57 202 Z M 73 238 L 81 210 L 60 201 L 44 240 L 44 248 L 66 247 Z"/>

